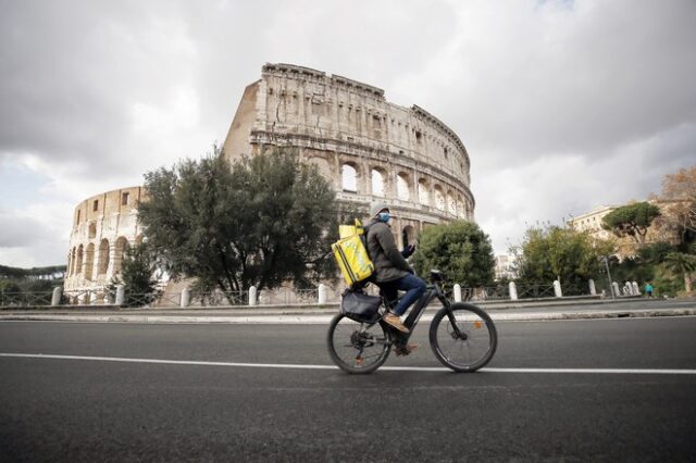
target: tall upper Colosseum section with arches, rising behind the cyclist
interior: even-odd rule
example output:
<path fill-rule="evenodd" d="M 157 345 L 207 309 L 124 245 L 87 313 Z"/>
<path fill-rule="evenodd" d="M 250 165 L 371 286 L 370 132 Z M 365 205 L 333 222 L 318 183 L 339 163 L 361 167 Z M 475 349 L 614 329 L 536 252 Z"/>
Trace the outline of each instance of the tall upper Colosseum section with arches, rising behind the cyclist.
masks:
<path fill-rule="evenodd" d="M 234 162 L 270 146 L 297 148 L 341 202 L 366 211 L 370 201 L 386 200 L 399 245 L 427 224 L 473 220 L 464 145 L 432 114 L 390 103 L 380 88 L 266 64 L 246 88 L 223 149 Z"/>

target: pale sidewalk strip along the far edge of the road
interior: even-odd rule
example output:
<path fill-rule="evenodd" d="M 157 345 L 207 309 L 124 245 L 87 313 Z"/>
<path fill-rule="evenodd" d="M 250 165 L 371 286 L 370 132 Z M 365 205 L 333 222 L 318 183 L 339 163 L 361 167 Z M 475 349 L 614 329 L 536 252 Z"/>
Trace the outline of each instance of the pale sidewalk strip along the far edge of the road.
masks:
<path fill-rule="evenodd" d="M 696 300 L 537 300 L 478 303 L 495 321 L 548 321 L 696 315 Z M 433 317 L 439 304 L 431 304 L 422 321 Z M 199 309 L 119 309 L 114 306 L 45 308 L 0 311 L 0 321 L 53 321 L 92 323 L 234 323 L 327 324 L 338 304 L 294 306 L 241 306 Z"/>

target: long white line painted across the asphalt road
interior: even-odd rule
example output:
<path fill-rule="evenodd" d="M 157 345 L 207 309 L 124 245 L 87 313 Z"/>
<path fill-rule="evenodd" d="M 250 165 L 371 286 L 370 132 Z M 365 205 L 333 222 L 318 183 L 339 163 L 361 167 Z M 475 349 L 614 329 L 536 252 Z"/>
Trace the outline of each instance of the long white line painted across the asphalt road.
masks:
<path fill-rule="evenodd" d="M 55 355 L 44 353 L 2 353 L 0 356 L 21 359 L 85 360 L 98 362 L 154 363 L 165 365 L 200 365 L 200 366 L 240 366 L 251 368 L 285 370 L 338 370 L 334 365 L 302 365 L 291 363 L 240 363 L 240 362 L 204 362 L 196 360 L 163 359 L 128 359 L 120 356 Z M 382 366 L 388 372 L 450 372 L 446 367 L 431 366 Z M 646 368 L 482 368 L 486 373 L 570 373 L 570 374 L 614 374 L 614 375 L 696 375 L 696 370 L 646 370 Z"/>

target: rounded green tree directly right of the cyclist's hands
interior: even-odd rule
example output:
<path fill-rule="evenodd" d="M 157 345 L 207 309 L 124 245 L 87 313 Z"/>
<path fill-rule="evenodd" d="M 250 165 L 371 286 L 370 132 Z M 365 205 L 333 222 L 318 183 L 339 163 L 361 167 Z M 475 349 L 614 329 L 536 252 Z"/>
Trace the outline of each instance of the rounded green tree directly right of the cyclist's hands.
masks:
<path fill-rule="evenodd" d="M 473 222 L 456 221 L 423 230 L 413 264 L 421 275 L 432 268 L 451 281 L 472 287 L 493 285 L 495 260 L 490 238 Z"/>

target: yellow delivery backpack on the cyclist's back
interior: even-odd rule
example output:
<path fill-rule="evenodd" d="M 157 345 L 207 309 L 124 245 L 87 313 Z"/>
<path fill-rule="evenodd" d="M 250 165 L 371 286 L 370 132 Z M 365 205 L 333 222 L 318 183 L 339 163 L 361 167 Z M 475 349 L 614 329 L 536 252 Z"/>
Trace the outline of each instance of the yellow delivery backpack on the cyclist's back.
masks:
<path fill-rule="evenodd" d="M 368 237 L 360 221 L 356 218 L 356 225 L 340 225 L 338 235 L 340 239 L 331 246 L 331 250 L 346 284 L 352 286 L 369 278 L 374 273 L 374 264 L 368 254 Z"/>

